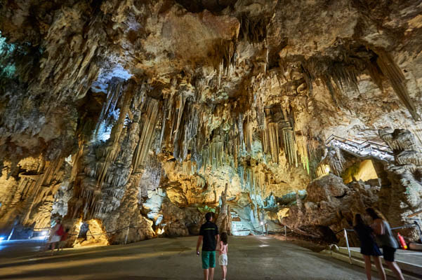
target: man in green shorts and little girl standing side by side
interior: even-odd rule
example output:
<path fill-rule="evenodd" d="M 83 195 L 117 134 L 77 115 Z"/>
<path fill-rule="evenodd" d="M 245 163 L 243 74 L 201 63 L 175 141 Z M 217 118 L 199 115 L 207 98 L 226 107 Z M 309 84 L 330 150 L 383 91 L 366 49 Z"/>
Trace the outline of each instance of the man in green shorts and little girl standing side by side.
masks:
<path fill-rule="evenodd" d="M 204 269 L 204 279 L 214 279 L 214 267 L 216 267 L 216 251 L 218 251 L 218 265 L 221 267 L 221 279 L 225 280 L 228 265 L 228 234 L 222 232 L 218 234 L 218 227 L 213 223 L 213 214 L 205 214 L 206 222 L 199 230 L 197 241 L 197 255 L 199 246 L 202 243 L 202 268 Z"/>

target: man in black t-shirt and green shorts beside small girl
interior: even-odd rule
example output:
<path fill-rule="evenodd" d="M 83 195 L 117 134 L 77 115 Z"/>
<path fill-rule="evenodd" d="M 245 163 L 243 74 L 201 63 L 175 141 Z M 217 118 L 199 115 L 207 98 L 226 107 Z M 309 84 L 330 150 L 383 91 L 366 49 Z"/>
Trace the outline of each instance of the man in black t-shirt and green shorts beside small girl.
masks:
<path fill-rule="evenodd" d="M 213 214 L 205 214 L 206 223 L 199 230 L 197 241 L 197 255 L 199 255 L 199 246 L 202 243 L 202 268 L 204 269 L 204 279 L 214 279 L 214 267 L 216 267 L 216 246 L 218 244 L 218 227 L 213 223 Z"/>

